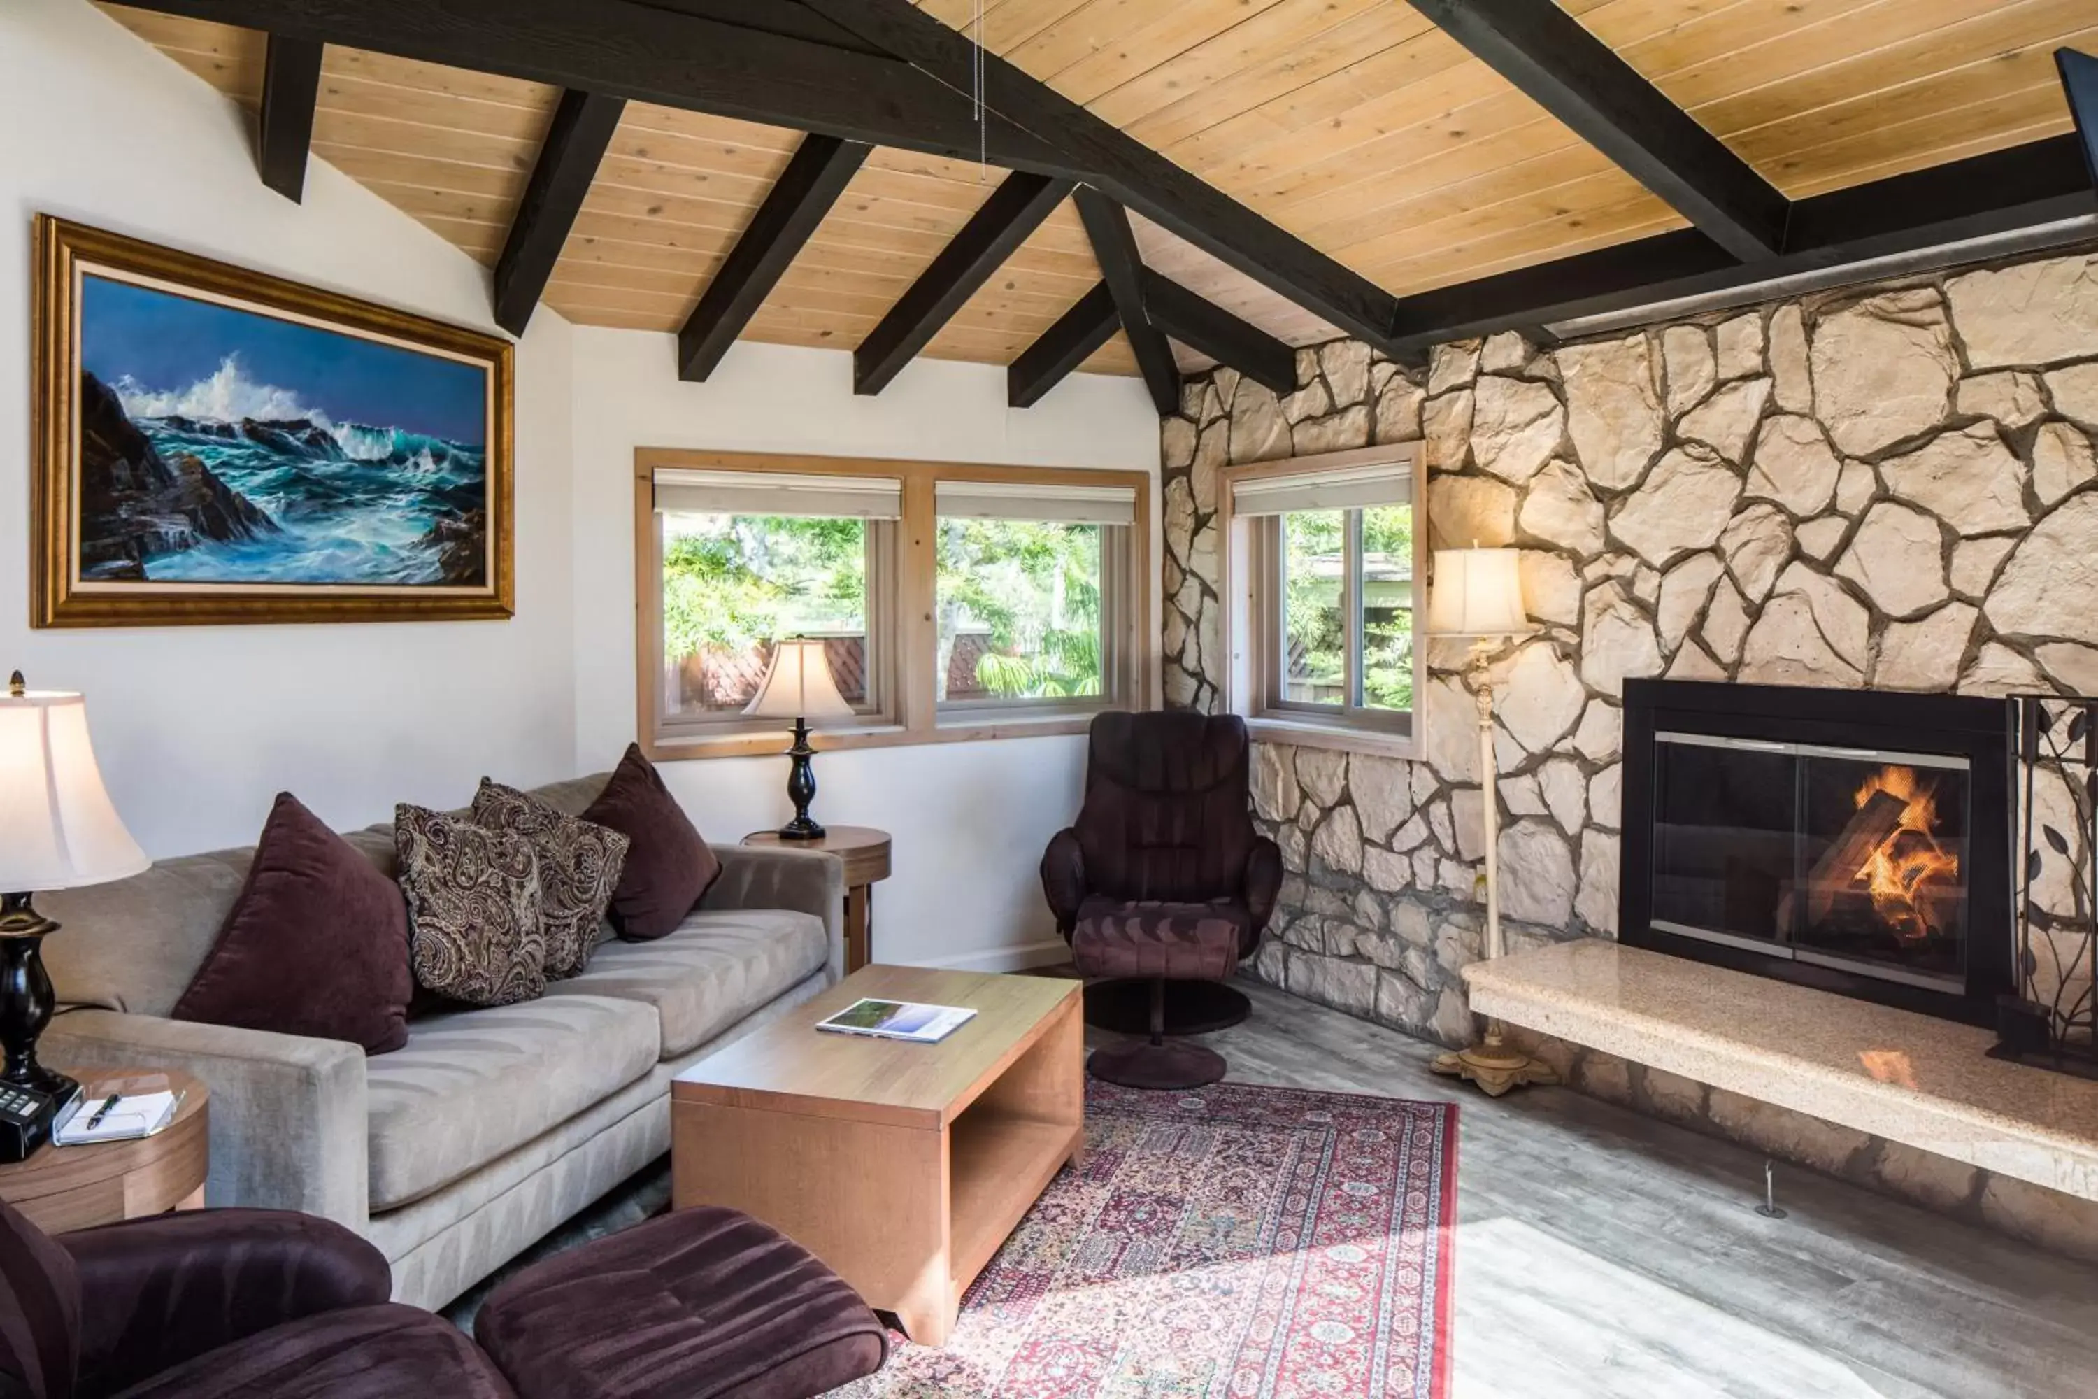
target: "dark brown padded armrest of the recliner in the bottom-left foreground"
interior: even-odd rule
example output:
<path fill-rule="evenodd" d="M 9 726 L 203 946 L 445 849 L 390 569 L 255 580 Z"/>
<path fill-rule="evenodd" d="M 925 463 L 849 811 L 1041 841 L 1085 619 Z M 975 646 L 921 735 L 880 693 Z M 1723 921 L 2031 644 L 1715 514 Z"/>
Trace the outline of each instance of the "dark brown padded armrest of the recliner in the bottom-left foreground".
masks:
<path fill-rule="evenodd" d="M 392 1273 L 342 1225 L 290 1210 L 189 1210 L 59 1235 L 80 1271 L 80 1393 L 113 1395 L 206 1351 L 346 1307 Z"/>

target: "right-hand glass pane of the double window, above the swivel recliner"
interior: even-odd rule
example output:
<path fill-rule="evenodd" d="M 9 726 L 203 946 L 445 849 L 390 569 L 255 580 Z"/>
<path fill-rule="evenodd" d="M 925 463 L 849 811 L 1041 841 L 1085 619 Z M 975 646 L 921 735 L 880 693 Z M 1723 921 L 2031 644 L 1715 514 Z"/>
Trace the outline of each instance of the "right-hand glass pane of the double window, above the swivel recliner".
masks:
<path fill-rule="evenodd" d="M 1101 692 L 1099 524 L 940 518 L 942 701 Z"/>

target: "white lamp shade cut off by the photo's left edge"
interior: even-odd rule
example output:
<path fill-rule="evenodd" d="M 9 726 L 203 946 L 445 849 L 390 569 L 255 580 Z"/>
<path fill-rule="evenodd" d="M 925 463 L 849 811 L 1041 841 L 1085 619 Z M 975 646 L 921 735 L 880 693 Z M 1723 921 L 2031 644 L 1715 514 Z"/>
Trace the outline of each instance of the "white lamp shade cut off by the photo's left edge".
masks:
<path fill-rule="evenodd" d="M 0 692 L 0 891 L 78 889 L 149 864 L 103 789 L 86 701 Z"/>

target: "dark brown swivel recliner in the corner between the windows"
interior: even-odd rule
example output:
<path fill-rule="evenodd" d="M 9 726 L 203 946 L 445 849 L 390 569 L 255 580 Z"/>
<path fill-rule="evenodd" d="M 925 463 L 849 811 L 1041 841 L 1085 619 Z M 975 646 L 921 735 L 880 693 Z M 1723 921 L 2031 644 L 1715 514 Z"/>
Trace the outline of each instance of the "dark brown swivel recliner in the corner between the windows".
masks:
<path fill-rule="evenodd" d="M 1078 820 L 1043 854 L 1043 894 L 1087 977 L 1087 1021 L 1146 1040 L 1104 1049 L 1097 1078 L 1192 1089 L 1223 1059 L 1166 1036 L 1238 1024 L 1223 986 L 1253 956 L 1282 889 L 1282 852 L 1253 828 L 1250 749 L 1236 715 L 1093 719 Z"/>

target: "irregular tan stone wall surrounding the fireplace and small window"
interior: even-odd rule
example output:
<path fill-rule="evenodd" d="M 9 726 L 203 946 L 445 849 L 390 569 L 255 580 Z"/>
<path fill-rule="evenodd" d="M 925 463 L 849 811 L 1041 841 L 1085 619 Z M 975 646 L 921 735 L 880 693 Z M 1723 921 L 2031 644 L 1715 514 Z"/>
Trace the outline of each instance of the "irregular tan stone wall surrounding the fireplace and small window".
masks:
<path fill-rule="evenodd" d="M 1511 948 L 1615 933 L 1622 682 L 2098 692 L 2098 256 L 1773 302 L 1538 352 L 1299 350 L 1164 422 L 1166 698 L 1223 673 L 1217 468 L 1420 440 L 1437 545 L 1523 550 L 1536 638 L 1494 659 Z M 1284 852 L 1253 973 L 1443 1042 L 1479 956 L 1477 719 L 1429 650 L 1418 761 L 1257 745 Z M 1599 1097 L 2098 1256 L 2098 1210 L 1813 1118 L 1546 1045 Z"/>

